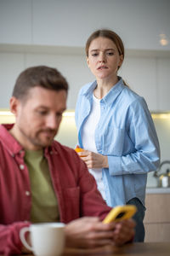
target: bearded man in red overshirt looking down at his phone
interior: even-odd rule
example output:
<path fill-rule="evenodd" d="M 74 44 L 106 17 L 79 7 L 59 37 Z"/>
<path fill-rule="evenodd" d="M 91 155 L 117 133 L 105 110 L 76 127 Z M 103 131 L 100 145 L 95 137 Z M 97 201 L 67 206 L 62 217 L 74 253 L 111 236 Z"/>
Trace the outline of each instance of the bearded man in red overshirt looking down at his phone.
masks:
<path fill-rule="evenodd" d="M 0 125 L 0 253 L 26 252 L 20 229 L 38 222 L 65 223 L 67 246 L 121 245 L 133 237 L 132 220 L 102 224 L 111 208 L 94 177 L 73 149 L 54 141 L 67 90 L 50 67 L 27 68 L 16 80 L 15 124 Z"/>

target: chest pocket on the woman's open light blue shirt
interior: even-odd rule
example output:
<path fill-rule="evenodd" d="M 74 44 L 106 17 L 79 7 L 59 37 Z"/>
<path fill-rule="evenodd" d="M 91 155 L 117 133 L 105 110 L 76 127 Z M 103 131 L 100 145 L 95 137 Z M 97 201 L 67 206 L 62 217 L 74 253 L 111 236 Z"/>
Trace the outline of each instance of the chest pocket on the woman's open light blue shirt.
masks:
<path fill-rule="evenodd" d="M 103 134 L 103 154 L 121 156 L 123 153 L 125 129 L 119 129 L 108 125 Z"/>

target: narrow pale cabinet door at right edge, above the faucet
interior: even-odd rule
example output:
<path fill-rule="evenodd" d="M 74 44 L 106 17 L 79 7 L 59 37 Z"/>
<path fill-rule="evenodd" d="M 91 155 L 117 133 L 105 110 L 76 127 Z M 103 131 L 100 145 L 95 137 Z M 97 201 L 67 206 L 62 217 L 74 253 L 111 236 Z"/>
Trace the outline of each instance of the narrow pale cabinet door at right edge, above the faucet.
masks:
<path fill-rule="evenodd" d="M 170 111 L 170 58 L 157 60 L 158 108 Z"/>

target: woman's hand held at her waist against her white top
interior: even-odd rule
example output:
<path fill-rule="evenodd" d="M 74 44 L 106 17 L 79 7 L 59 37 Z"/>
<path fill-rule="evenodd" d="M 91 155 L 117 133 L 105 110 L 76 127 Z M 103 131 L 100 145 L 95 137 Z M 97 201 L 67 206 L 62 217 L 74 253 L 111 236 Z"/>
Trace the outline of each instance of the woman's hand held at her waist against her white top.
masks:
<path fill-rule="evenodd" d="M 88 169 L 109 168 L 108 159 L 106 155 L 96 154 L 88 150 L 78 152 L 77 154 L 87 164 Z"/>

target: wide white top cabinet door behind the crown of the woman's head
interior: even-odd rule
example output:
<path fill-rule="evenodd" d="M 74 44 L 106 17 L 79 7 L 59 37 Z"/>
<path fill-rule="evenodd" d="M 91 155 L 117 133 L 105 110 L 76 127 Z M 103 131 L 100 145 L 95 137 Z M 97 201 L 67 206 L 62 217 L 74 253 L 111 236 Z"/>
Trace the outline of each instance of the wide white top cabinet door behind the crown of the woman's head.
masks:
<path fill-rule="evenodd" d="M 162 49 L 159 34 L 169 37 L 167 0 L 32 0 L 32 8 L 33 44 L 83 47 L 101 27 L 116 31 L 127 49 Z"/>

